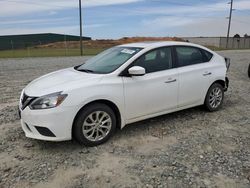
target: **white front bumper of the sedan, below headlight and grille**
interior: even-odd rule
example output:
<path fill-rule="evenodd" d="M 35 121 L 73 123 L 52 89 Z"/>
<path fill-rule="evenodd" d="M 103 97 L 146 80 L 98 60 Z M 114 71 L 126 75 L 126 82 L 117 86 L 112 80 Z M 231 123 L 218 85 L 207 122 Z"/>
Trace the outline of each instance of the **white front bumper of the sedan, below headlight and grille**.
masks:
<path fill-rule="evenodd" d="M 25 136 L 38 140 L 64 141 L 72 139 L 72 125 L 77 111 L 73 107 L 45 110 L 19 109 Z"/>

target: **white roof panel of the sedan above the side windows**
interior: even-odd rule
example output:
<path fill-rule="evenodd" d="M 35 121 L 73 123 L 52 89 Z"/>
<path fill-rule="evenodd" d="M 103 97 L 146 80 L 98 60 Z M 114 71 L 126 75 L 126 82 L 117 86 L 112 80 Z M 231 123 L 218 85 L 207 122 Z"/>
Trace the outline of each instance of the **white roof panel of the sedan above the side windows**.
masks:
<path fill-rule="evenodd" d="M 184 46 L 194 46 L 199 48 L 204 48 L 203 46 L 189 43 L 189 42 L 179 42 L 179 41 L 146 41 L 146 42 L 138 42 L 138 43 L 130 43 L 120 45 L 122 47 L 137 47 L 137 48 L 157 48 L 163 46 L 174 46 L 174 45 L 184 45 Z"/>

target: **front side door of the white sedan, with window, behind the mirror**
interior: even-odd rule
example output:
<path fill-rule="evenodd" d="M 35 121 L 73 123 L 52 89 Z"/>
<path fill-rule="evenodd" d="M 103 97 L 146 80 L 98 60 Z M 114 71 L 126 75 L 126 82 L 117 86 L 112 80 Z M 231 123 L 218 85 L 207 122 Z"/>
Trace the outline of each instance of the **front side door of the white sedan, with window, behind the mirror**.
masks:
<path fill-rule="evenodd" d="M 172 69 L 172 48 L 152 50 L 132 63 L 143 76 L 123 77 L 126 119 L 157 114 L 177 107 L 178 73 Z"/>

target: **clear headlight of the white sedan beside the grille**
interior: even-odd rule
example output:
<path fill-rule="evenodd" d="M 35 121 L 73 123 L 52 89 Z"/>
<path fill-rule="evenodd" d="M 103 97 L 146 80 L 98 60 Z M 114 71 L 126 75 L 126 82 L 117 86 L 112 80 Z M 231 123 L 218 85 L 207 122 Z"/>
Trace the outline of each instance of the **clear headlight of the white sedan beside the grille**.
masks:
<path fill-rule="evenodd" d="M 62 92 L 52 93 L 35 99 L 30 105 L 30 109 L 48 109 L 59 106 L 64 99 L 68 96 L 67 94 L 61 94 Z"/>

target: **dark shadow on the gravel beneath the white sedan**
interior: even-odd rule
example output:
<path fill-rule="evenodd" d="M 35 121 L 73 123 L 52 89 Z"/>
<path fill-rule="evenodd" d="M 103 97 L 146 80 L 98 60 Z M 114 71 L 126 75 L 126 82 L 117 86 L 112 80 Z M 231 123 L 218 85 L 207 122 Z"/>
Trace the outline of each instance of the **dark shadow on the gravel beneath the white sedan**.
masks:
<path fill-rule="evenodd" d="M 136 136 L 136 135 L 145 135 L 148 134 L 148 130 L 150 129 L 150 132 L 157 131 L 159 128 L 169 128 L 171 123 L 181 123 L 188 120 L 192 120 L 195 116 L 199 115 L 206 115 L 209 112 L 205 110 L 203 106 L 193 107 L 190 109 L 181 110 L 178 112 L 173 112 L 170 114 L 150 118 L 147 120 L 139 121 L 136 123 L 128 124 L 126 125 L 122 130 L 117 129 L 114 136 L 104 143 L 103 145 L 96 146 L 94 148 L 106 148 L 106 147 L 114 147 L 113 143 L 119 142 L 121 139 L 127 139 L 130 136 Z M 170 122 L 170 124 L 168 124 Z M 155 125 L 159 124 L 159 126 Z M 188 125 L 191 128 L 192 126 L 195 126 L 193 124 Z M 171 128 L 171 127 L 170 127 Z M 176 128 L 175 128 L 176 129 Z M 29 139 L 34 145 L 38 145 L 38 148 L 41 150 L 51 150 L 54 152 L 72 152 L 72 151 L 80 151 L 80 150 L 86 150 L 93 147 L 86 147 L 84 145 L 79 144 L 76 140 L 70 140 L 70 141 L 62 141 L 62 142 L 49 142 L 49 141 L 40 141 L 40 140 L 33 140 Z"/>

